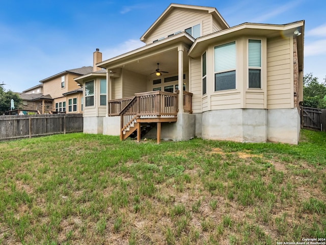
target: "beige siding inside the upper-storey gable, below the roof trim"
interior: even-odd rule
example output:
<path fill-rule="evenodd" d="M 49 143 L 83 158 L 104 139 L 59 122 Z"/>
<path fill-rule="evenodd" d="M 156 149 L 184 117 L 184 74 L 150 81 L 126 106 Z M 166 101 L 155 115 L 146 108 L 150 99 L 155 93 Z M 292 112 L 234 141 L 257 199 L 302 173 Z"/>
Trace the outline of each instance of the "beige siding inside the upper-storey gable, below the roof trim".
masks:
<path fill-rule="evenodd" d="M 212 23 L 210 14 L 180 9 L 173 10 L 149 35 L 146 44 L 150 44 L 154 40 L 162 37 L 167 38 L 169 35 L 178 31 L 183 32 L 185 29 L 193 27 L 196 24 L 200 24 L 201 26 L 201 35 L 211 33 Z"/>

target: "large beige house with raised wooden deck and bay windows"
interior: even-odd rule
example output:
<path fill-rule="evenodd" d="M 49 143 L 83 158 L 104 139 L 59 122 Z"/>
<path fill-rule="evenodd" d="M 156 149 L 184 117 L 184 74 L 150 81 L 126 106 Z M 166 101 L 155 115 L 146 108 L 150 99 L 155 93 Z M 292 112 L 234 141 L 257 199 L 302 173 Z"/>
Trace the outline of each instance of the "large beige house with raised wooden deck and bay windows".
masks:
<path fill-rule="evenodd" d="M 154 124 L 148 135 L 158 142 L 297 144 L 304 21 L 229 27 L 215 8 L 171 4 L 141 41 L 97 64 L 106 70 L 105 94 L 99 79 L 75 79 L 84 86 L 85 133 L 124 139 L 134 131 L 139 140 L 142 126 Z"/>

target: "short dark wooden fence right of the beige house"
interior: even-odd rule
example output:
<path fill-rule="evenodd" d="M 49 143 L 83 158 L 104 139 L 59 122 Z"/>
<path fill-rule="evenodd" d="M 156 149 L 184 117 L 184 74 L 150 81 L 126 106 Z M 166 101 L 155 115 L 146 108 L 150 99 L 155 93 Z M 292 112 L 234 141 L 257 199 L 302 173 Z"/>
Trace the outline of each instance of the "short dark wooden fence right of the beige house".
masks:
<path fill-rule="evenodd" d="M 326 132 L 326 110 L 300 107 L 301 128 Z"/>

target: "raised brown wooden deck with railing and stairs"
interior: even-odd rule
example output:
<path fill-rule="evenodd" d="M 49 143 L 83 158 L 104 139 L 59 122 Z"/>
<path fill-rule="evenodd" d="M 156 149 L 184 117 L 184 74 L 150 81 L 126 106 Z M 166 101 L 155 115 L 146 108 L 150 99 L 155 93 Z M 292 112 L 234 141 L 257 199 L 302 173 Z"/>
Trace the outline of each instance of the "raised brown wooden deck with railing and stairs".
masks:
<path fill-rule="evenodd" d="M 141 139 L 141 124 L 157 124 L 157 143 L 160 142 L 161 122 L 177 121 L 178 92 L 151 91 L 136 93 L 134 97 L 108 101 L 108 116 L 120 116 L 120 139 L 126 139 L 137 130 Z M 192 93 L 183 91 L 183 110 L 192 113 Z"/>

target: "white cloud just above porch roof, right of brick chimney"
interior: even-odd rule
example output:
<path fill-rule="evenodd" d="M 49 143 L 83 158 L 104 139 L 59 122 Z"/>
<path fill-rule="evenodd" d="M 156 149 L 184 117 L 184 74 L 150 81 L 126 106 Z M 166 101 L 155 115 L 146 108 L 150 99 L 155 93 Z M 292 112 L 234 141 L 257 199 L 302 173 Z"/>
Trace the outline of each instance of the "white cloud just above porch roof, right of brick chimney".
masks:
<path fill-rule="evenodd" d="M 129 51 L 135 50 L 139 47 L 144 46 L 145 44 L 140 40 L 129 39 L 115 47 L 110 47 L 105 49 L 103 53 L 103 60 L 116 57 L 118 55 L 125 54 Z M 107 57 L 107 58 L 106 58 Z"/>

